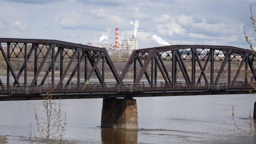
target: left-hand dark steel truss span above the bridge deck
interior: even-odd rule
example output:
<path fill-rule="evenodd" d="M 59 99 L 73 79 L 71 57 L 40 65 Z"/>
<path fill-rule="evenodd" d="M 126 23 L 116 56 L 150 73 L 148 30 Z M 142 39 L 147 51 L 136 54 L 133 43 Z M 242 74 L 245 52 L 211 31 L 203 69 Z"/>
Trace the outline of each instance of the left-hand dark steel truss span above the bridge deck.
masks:
<path fill-rule="evenodd" d="M 95 72 L 99 82 L 104 84 L 105 63 L 109 66 L 116 82 L 118 84 L 122 83 L 107 51 L 102 48 L 57 40 L 0 38 L 0 50 L 1 60 L 7 65 L 8 86 L 27 86 L 29 66 L 34 69 L 32 81 L 29 83 L 31 86 L 49 83 L 49 81 L 46 81 L 49 73 L 51 73 L 51 83 L 55 84 L 57 80 L 54 77 L 56 72 L 59 72 L 59 80 L 56 84 L 58 87 L 67 78 L 68 80 L 65 83 L 69 85 L 75 74 L 77 75 L 77 84 L 80 84 L 81 71 L 84 71 L 84 83 L 88 82 Z M 91 65 L 90 72 L 88 72 L 88 62 Z M 17 70 L 19 68 L 16 66 L 17 63 L 22 65 L 19 70 Z M 82 63 L 84 64 L 83 70 L 81 69 Z M 99 67 L 102 70 L 101 72 Z M 19 72 L 16 74 L 15 71 Z M 72 72 L 70 76 L 68 76 L 69 72 Z M 10 73 L 14 83 L 10 83 Z M 22 74 L 24 74 L 23 83 L 19 80 Z M 39 75 L 43 76 L 40 82 L 38 82 Z M 0 85 L 4 85 L 1 79 Z"/>

